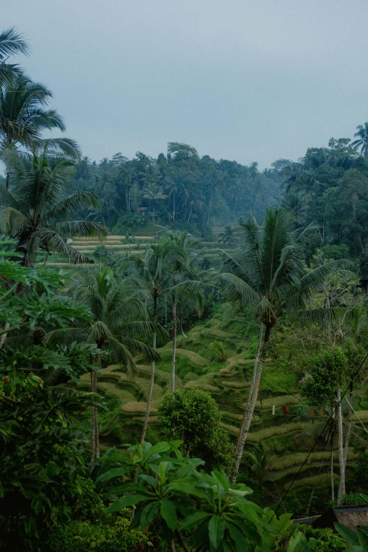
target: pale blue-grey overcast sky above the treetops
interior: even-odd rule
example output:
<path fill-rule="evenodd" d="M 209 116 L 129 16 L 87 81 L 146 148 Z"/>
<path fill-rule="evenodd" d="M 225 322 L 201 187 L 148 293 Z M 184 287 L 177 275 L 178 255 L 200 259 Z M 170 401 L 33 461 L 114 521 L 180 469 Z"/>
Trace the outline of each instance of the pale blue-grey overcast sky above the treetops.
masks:
<path fill-rule="evenodd" d="M 367 0 L 11 0 L 84 155 L 296 161 L 368 120 Z M 55 132 L 54 136 L 57 135 Z"/>

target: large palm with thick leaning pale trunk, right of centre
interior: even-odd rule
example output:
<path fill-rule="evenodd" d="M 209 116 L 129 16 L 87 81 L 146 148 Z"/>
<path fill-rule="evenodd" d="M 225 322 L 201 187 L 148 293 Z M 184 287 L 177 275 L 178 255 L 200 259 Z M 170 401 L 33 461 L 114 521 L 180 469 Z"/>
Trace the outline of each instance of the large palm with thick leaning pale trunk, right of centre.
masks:
<path fill-rule="evenodd" d="M 262 227 L 258 226 L 254 217 L 247 223 L 240 224 L 245 247 L 240 252 L 239 259 L 221 251 L 223 267 L 226 270 L 219 276 L 223 292 L 236 305 L 253 307 L 254 317 L 261 323 L 250 394 L 235 449 L 233 481 L 238 474 L 250 429 L 269 338 L 274 326 L 284 312 L 296 314 L 302 310 L 310 319 L 321 319 L 323 309 L 307 312 L 307 300 L 332 269 L 344 264 L 343 261 L 332 261 L 305 274 L 302 264 L 302 240 L 306 231 L 292 232 L 291 225 L 290 216 L 283 207 L 266 209 Z"/>

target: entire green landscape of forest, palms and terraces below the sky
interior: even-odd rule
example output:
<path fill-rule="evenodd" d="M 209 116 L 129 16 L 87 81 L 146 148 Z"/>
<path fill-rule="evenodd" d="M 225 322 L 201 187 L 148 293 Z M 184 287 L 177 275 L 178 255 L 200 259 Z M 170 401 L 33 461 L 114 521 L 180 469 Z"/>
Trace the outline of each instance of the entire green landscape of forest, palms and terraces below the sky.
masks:
<path fill-rule="evenodd" d="M 94 161 L 20 54 L 1 32 L 1 550 L 368 551 L 364 114 L 264 170 Z"/>

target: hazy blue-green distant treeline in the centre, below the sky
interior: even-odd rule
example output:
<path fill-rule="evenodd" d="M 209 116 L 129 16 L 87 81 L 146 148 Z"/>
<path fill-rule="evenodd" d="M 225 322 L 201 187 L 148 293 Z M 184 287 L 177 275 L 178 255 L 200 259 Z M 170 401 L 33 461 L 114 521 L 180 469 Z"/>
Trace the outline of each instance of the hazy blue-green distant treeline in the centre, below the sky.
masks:
<path fill-rule="evenodd" d="M 170 142 L 157 159 L 118 153 L 97 164 L 84 157 L 73 189 L 97 192 L 103 198 L 97 218 L 121 231 L 147 221 L 224 226 L 250 211 L 262 218 L 266 205 L 279 202 L 281 180 L 277 168 L 260 172 L 257 163 L 200 158 L 194 147 Z"/>

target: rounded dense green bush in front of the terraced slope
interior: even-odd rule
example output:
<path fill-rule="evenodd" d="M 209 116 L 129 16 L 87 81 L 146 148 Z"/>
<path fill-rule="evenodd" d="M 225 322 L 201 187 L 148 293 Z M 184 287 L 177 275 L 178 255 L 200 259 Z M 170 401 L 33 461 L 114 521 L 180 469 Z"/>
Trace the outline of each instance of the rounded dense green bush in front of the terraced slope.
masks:
<path fill-rule="evenodd" d="M 231 464 L 231 444 L 220 429 L 221 412 L 210 393 L 201 389 L 180 389 L 167 394 L 159 406 L 163 434 L 183 440 L 183 450 L 198 455 L 207 470 L 227 469 Z"/>

